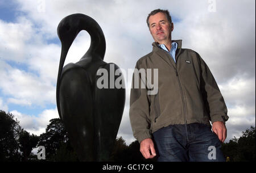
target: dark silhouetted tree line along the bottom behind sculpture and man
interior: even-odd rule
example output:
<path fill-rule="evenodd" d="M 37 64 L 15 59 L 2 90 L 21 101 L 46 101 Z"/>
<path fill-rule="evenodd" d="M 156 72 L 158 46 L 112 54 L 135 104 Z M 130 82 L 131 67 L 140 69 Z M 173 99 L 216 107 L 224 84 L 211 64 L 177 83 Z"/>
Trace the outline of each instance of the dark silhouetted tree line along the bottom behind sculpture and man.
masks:
<path fill-rule="evenodd" d="M 46 160 L 38 160 L 31 153 L 35 147 L 44 146 Z M 255 161 L 255 127 L 242 132 L 240 138 L 232 138 L 222 144 L 222 152 L 228 162 Z M 68 133 L 60 119 L 51 119 L 46 132 L 36 136 L 24 130 L 10 112 L 0 110 L 0 161 L 16 162 L 76 162 L 79 161 Z M 122 137 L 115 140 L 110 161 L 155 162 L 156 158 L 144 159 L 136 140 L 126 145 Z"/>

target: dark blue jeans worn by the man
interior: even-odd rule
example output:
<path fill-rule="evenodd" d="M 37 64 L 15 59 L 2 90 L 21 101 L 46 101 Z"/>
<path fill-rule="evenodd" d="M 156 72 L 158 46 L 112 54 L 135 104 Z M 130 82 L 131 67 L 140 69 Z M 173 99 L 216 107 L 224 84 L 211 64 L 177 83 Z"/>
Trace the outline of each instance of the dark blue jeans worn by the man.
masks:
<path fill-rule="evenodd" d="M 159 162 L 225 162 L 221 141 L 208 125 L 169 125 L 153 137 Z"/>

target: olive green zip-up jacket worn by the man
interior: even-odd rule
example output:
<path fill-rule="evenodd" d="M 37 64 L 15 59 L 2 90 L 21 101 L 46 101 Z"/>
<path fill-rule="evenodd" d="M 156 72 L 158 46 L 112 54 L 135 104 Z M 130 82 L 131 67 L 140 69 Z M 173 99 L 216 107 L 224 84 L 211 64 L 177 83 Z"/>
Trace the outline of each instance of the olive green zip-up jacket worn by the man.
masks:
<path fill-rule="evenodd" d="M 156 130 L 171 124 L 203 123 L 229 119 L 224 98 L 220 89 L 198 53 L 181 48 L 177 44 L 176 64 L 166 50 L 153 43 L 152 52 L 139 58 L 135 69 L 158 69 L 158 92 L 148 95 L 150 87 L 142 87 L 146 81 L 133 83 L 130 92 L 130 123 L 134 137 L 141 142 L 151 138 Z M 150 73 L 150 72 L 148 72 Z M 139 81 L 142 76 L 139 75 Z M 154 75 L 151 76 L 153 81 Z M 153 83 L 153 82 L 151 82 Z"/>

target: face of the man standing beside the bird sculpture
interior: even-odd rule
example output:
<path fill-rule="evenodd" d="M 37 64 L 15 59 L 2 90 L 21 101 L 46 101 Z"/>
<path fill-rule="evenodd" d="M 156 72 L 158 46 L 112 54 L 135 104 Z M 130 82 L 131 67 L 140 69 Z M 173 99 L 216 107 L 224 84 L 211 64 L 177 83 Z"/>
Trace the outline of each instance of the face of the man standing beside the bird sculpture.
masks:
<path fill-rule="evenodd" d="M 163 12 L 158 12 L 155 15 L 150 16 L 148 19 L 150 33 L 153 39 L 159 44 L 166 43 L 171 40 L 171 31 L 174 30 L 174 25 L 170 26 L 166 15 Z"/>

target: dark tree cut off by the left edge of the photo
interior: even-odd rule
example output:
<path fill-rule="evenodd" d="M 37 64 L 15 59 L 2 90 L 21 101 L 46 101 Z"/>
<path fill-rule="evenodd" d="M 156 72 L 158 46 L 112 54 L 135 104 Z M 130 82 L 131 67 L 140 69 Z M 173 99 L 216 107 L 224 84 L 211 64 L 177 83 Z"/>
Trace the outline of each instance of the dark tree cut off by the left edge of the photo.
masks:
<path fill-rule="evenodd" d="M 10 112 L 0 110 L 0 161 L 20 161 L 20 125 Z"/>

